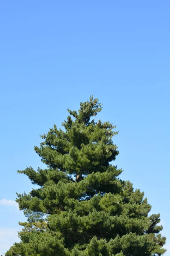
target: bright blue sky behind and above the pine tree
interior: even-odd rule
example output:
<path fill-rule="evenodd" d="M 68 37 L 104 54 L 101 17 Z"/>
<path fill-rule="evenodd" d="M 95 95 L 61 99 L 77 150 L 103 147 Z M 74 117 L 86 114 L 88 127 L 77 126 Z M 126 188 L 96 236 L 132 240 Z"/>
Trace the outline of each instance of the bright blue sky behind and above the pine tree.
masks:
<path fill-rule="evenodd" d="M 122 179 L 161 213 L 170 256 L 170 1 L 0 1 L 0 253 L 17 241 L 17 170 L 40 134 L 94 95 L 117 125 Z"/>

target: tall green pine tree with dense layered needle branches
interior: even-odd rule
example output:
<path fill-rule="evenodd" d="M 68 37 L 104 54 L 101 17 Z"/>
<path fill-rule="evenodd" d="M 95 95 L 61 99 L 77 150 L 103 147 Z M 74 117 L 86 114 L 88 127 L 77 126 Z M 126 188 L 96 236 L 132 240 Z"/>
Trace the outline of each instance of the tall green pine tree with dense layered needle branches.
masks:
<path fill-rule="evenodd" d="M 111 162 L 119 154 L 112 138 L 116 126 L 95 121 L 98 99 L 42 136 L 35 147 L 47 169 L 18 171 L 39 186 L 17 194 L 28 221 L 6 256 L 153 256 L 162 255 L 165 237 L 160 215 L 149 216 L 144 193 L 119 178 Z"/>

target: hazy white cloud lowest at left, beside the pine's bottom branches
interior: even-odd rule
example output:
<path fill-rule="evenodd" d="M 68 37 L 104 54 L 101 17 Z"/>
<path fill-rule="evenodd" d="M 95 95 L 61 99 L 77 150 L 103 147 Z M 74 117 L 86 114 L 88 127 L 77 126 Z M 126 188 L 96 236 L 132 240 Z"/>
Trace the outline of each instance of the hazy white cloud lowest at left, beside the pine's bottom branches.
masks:
<path fill-rule="evenodd" d="M 6 251 L 14 244 L 19 242 L 18 228 L 4 228 L 0 227 L 0 255 L 6 253 Z"/>

